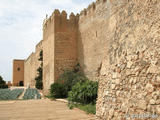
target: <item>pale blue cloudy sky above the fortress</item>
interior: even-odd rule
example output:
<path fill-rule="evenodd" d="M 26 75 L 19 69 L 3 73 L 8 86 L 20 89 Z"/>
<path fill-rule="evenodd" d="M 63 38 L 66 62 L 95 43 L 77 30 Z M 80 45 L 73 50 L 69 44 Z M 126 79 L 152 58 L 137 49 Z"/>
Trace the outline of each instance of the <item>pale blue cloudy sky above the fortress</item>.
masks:
<path fill-rule="evenodd" d="M 79 13 L 95 0 L 0 0 L 0 75 L 12 81 L 13 59 L 26 59 L 42 39 L 42 23 L 54 9 Z"/>

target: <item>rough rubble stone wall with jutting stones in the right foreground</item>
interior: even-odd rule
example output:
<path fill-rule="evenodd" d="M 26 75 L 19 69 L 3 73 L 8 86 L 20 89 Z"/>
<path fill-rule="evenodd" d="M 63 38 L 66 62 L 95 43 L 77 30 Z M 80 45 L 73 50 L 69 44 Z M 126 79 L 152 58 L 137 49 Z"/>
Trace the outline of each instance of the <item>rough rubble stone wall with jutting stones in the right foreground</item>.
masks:
<path fill-rule="evenodd" d="M 110 88 L 115 89 L 108 89 L 108 92 L 114 91 L 116 101 L 107 101 L 99 97 L 97 116 L 110 119 L 110 115 L 107 114 L 110 109 L 106 108 L 106 112 L 101 114 L 101 108 L 98 106 L 115 104 L 118 105 L 114 109 L 116 115 L 111 115 L 113 120 L 122 119 L 126 114 L 160 115 L 160 94 L 157 92 L 160 85 L 160 1 L 131 0 L 126 1 L 124 6 L 117 1 L 114 3 L 116 4 L 112 4 L 107 10 L 117 10 L 113 14 L 116 27 L 105 29 L 105 40 L 108 40 L 106 43 L 109 47 L 106 47 L 108 51 L 104 58 L 109 59 L 106 59 L 103 66 L 105 74 L 111 77 L 106 79 L 106 76 L 100 80 L 105 85 L 99 85 L 99 94 L 103 95 L 100 91 L 107 88 L 106 86 L 111 86 Z M 106 17 L 106 21 L 109 21 L 108 19 L 110 20 L 110 17 Z M 112 33 L 109 32 L 109 28 L 112 28 Z M 116 84 L 116 87 L 106 81 Z"/>

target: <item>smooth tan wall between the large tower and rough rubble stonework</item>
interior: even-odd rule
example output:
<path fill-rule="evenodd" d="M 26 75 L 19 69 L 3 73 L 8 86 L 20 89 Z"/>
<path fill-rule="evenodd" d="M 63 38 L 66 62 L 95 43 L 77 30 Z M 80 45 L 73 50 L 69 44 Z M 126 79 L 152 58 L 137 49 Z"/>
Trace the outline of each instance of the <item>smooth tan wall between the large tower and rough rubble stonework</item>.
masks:
<path fill-rule="evenodd" d="M 99 76 L 102 60 L 106 56 L 110 36 L 114 34 L 111 3 L 97 0 L 79 16 L 78 60 L 90 80 Z M 118 10 L 118 8 L 116 8 Z"/>

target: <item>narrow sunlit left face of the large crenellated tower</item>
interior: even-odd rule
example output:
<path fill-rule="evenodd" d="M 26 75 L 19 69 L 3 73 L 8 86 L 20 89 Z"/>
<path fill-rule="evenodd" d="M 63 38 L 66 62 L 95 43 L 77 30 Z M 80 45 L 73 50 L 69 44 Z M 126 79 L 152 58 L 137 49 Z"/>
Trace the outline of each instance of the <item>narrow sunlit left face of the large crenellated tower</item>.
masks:
<path fill-rule="evenodd" d="M 47 19 L 43 28 L 43 87 L 48 92 L 50 84 L 54 82 L 54 18 L 56 14 Z"/>

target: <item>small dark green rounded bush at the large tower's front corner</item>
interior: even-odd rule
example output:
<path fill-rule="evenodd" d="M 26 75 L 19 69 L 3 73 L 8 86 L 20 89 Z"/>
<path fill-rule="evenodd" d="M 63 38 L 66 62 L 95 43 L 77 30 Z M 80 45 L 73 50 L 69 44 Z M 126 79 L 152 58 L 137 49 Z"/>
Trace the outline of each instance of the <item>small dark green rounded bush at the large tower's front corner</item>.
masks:
<path fill-rule="evenodd" d="M 66 98 L 67 89 L 64 84 L 53 83 L 50 88 L 50 96 L 52 98 Z"/>

